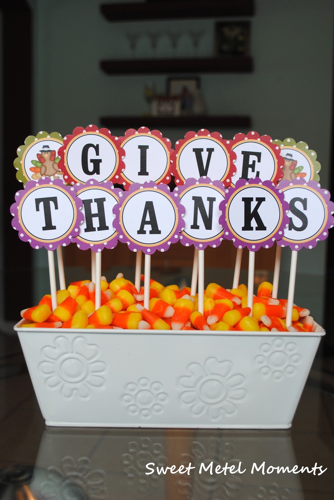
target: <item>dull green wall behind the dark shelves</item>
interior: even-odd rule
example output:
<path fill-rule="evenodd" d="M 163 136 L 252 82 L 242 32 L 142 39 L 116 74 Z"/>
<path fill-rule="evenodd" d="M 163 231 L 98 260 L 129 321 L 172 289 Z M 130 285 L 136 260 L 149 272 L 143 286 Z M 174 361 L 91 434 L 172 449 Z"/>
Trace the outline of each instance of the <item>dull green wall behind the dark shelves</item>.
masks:
<path fill-rule="evenodd" d="M 101 2 L 98 1 L 30 2 L 34 9 L 35 33 L 33 131 L 57 130 L 66 134 L 77 125 L 99 124 L 99 116 L 103 114 L 148 111 L 143 94 L 145 83 L 152 81 L 157 91 L 163 92 L 169 75 L 108 76 L 99 69 L 100 59 L 131 57 L 128 32 L 142 33 L 137 56 L 147 57 L 152 55 L 148 31 L 183 31 L 177 55 L 186 56 L 193 54 L 187 30 L 202 26 L 205 34 L 198 53 L 210 56 L 213 52 L 217 19 L 109 23 L 100 14 Z M 201 75 L 199 68 L 208 112 L 250 114 L 252 128 L 261 134 L 280 139 L 292 136 L 308 142 L 322 164 L 321 183 L 328 186 L 334 3 L 332 0 L 256 0 L 255 4 L 256 14 L 251 18 L 254 72 Z M 171 54 L 170 40 L 163 34 L 156 55 Z M 120 135 L 124 129 L 111 131 Z M 186 130 L 162 131 L 175 141 Z M 238 131 L 248 130 L 220 131 L 224 138 L 229 138 Z M 298 272 L 314 275 L 317 282 L 319 314 L 325 264 L 326 243 L 299 254 Z M 36 266 L 47 266 L 46 255 L 36 258 Z M 290 251 L 287 250 L 282 264 L 285 277 L 289 266 Z M 45 287 L 45 283 L 42 286 Z M 40 290 L 38 286 L 36 293 Z M 303 294 L 303 289 L 297 284 L 296 300 L 299 293 Z"/>

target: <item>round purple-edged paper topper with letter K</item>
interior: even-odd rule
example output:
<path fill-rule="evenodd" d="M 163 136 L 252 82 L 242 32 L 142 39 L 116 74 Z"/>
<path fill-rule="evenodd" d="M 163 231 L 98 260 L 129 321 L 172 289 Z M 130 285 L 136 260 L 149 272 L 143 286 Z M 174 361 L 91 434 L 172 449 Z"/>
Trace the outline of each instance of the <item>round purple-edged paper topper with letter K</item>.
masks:
<path fill-rule="evenodd" d="M 281 239 L 289 221 L 283 192 L 273 182 L 259 178 L 238 180 L 226 191 L 220 209 L 224 238 L 231 239 L 237 248 L 247 246 L 252 251 L 269 248 Z"/>

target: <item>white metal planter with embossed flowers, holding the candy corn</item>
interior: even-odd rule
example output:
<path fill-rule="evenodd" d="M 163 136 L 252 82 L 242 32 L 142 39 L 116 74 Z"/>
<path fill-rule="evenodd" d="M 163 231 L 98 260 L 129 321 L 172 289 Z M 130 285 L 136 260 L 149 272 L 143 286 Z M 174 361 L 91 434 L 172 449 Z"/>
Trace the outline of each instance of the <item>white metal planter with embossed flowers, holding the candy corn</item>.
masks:
<path fill-rule="evenodd" d="M 20 328 L 47 425 L 288 428 L 325 332 Z"/>

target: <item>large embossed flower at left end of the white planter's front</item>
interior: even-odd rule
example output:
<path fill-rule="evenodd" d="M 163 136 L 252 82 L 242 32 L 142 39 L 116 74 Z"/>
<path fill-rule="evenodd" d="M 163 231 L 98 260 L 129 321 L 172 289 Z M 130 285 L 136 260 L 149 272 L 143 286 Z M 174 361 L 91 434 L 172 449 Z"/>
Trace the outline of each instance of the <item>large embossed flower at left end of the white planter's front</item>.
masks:
<path fill-rule="evenodd" d="M 57 389 L 67 398 L 78 395 L 89 398 L 92 389 L 104 388 L 107 370 L 104 361 L 98 360 L 100 348 L 89 344 L 83 336 L 75 337 L 71 342 L 60 335 L 54 339 L 54 345 L 42 348 L 44 360 L 38 365 L 45 376 L 45 384 L 50 389 Z"/>

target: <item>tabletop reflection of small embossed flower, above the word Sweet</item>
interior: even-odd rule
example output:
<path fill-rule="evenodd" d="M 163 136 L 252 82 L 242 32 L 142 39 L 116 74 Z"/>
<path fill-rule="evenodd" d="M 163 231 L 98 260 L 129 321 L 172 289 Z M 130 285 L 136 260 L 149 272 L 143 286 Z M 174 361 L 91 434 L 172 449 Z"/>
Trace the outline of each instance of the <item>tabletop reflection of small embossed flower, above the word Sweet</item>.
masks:
<path fill-rule="evenodd" d="M 128 451 L 122 455 L 124 472 L 128 478 L 128 485 L 137 484 L 140 491 L 159 486 L 163 475 L 159 475 L 156 470 L 152 474 L 146 475 L 146 464 L 153 462 L 156 467 L 166 467 L 167 458 L 160 442 L 154 442 L 149 437 L 142 437 L 138 441 L 128 443 Z"/>

